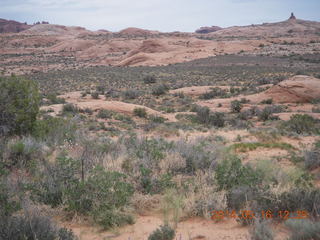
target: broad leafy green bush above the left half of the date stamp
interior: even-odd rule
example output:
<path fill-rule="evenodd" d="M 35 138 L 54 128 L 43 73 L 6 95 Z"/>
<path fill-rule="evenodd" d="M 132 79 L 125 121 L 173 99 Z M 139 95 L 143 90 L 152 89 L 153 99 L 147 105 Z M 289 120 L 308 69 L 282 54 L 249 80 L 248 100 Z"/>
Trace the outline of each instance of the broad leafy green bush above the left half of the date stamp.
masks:
<path fill-rule="evenodd" d="M 242 165 L 236 156 L 219 162 L 215 168 L 218 189 L 230 190 L 236 186 L 258 186 L 262 182 L 261 173 L 249 165 Z"/>

